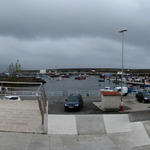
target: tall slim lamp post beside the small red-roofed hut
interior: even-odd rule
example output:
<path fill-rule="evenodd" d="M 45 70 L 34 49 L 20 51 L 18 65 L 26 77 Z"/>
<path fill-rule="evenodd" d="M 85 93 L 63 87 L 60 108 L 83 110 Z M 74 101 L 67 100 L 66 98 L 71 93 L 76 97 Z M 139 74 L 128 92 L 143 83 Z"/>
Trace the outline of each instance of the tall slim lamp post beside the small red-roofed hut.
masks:
<path fill-rule="evenodd" d="M 123 96 L 123 69 L 124 69 L 124 64 L 123 64 L 123 50 L 124 50 L 124 32 L 126 32 L 127 29 L 122 29 L 119 31 L 119 33 L 122 34 L 122 67 L 121 67 L 121 107 L 123 107 L 123 101 L 122 101 L 122 96 Z M 122 109 L 122 108 L 121 108 Z"/>

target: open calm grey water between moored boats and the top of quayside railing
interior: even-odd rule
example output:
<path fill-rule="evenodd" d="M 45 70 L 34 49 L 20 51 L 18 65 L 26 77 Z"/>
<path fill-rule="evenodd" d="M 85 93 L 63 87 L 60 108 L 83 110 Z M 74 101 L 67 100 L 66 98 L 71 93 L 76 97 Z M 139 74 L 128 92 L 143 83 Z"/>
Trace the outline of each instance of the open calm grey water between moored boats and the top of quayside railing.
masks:
<path fill-rule="evenodd" d="M 86 80 L 75 80 L 75 76 L 71 78 L 62 78 L 62 80 L 57 81 L 56 78 L 45 78 L 46 84 L 45 90 L 46 94 L 49 95 L 51 92 L 68 92 L 68 91 L 88 91 L 88 90 L 100 90 L 106 86 L 111 88 L 116 87 L 116 84 L 109 80 L 105 82 L 98 82 L 100 79 L 98 76 L 89 76 Z"/>

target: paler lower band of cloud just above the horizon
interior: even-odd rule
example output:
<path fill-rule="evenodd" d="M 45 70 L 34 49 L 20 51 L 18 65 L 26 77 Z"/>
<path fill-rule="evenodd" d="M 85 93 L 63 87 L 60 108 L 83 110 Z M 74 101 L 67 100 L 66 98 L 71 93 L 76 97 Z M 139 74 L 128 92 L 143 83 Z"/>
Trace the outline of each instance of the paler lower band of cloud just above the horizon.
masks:
<path fill-rule="evenodd" d="M 19 59 L 24 68 L 120 67 L 120 42 L 104 38 L 43 39 L 35 41 L 0 37 L 1 62 Z M 109 44 L 108 44 L 109 43 Z M 124 51 L 125 67 L 149 67 L 149 54 L 131 45 Z M 143 63 L 139 62 L 144 57 Z"/>

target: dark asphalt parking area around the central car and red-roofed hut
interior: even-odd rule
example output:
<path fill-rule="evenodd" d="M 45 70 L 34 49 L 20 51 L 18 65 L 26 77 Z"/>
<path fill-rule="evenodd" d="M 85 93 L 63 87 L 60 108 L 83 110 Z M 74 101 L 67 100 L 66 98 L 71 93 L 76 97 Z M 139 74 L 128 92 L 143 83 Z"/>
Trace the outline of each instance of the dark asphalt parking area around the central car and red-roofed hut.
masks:
<path fill-rule="evenodd" d="M 83 97 L 84 107 L 81 111 L 64 111 L 66 97 L 49 97 L 49 114 L 103 114 L 118 112 L 103 112 L 100 97 Z M 123 97 L 125 112 L 150 111 L 150 103 L 140 103 L 133 96 Z M 96 103 L 95 103 L 96 102 Z"/>

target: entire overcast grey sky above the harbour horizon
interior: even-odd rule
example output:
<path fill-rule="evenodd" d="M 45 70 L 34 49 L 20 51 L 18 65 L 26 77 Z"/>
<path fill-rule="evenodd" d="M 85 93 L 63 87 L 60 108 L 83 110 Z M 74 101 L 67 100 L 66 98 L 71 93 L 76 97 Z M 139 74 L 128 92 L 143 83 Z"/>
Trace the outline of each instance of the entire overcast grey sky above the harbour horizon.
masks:
<path fill-rule="evenodd" d="M 149 0 L 0 0 L 0 67 L 150 68 Z"/>

